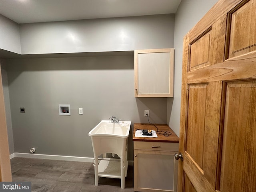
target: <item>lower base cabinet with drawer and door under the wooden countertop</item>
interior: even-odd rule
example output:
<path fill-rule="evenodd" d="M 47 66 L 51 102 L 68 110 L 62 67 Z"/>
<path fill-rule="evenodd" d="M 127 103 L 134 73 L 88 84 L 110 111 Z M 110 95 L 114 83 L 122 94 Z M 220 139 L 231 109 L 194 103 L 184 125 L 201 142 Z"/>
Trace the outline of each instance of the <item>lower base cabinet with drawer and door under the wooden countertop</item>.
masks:
<path fill-rule="evenodd" d="M 134 142 L 134 191 L 177 191 L 178 143 Z"/>

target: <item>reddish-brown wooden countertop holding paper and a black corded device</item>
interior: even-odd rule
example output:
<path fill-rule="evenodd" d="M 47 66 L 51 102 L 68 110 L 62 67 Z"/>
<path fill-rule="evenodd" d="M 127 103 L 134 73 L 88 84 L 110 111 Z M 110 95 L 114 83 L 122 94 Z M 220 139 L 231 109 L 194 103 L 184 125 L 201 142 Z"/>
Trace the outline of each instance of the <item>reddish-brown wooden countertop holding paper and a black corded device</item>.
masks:
<path fill-rule="evenodd" d="M 158 131 L 160 133 L 164 133 L 164 131 L 171 132 L 172 134 L 169 136 L 164 136 L 163 134 L 156 133 L 156 137 L 135 137 L 135 132 L 136 129 L 150 129 L 150 130 L 157 130 L 155 126 L 158 127 Z M 134 123 L 134 128 L 133 128 L 133 136 L 132 140 L 133 141 L 148 141 L 148 142 L 172 142 L 172 143 L 178 143 L 179 138 L 178 136 L 173 132 L 173 130 L 167 125 L 167 124 L 148 124 L 148 123 Z"/>

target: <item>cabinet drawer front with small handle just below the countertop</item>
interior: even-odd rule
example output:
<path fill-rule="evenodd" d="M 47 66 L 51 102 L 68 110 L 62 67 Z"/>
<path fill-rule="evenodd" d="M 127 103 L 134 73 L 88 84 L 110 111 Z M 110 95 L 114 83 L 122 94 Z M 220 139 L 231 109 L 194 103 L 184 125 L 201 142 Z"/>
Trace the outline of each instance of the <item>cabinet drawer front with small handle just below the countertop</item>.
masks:
<path fill-rule="evenodd" d="M 178 151 L 178 143 L 164 143 L 164 142 L 134 142 L 134 149 L 137 150 L 159 150 L 159 151 Z"/>

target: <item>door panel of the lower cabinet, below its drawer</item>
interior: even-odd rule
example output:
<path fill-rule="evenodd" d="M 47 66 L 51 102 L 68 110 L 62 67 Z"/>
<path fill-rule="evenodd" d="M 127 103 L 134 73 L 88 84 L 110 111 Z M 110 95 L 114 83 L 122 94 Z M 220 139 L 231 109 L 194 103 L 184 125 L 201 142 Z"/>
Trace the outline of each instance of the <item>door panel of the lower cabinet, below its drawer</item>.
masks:
<path fill-rule="evenodd" d="M 134 150 L 134 190 L 176 191 L 175 152 Z"/>

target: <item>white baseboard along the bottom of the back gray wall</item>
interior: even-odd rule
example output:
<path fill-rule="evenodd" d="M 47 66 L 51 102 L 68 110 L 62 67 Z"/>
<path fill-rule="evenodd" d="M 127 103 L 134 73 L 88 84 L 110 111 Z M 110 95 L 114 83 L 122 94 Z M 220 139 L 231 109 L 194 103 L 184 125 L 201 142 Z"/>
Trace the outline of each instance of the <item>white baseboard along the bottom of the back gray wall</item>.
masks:
<path fill-rule="evenodd" d="M 44 155 L 44 154 L 30 154 L 30 153 L 13 153 L 13 154 L 10 154 L 10 159 L 12 159 L 14 157 L 63 160 L 63 161 L 77 161 L 77 162 L 88 162 L 88 163 L 93 163 L 94 162 L 94 158 L 92 158 L 92 157 Z M 128 161 L 128 165 L 133 166 L 133 161 Z"/>

